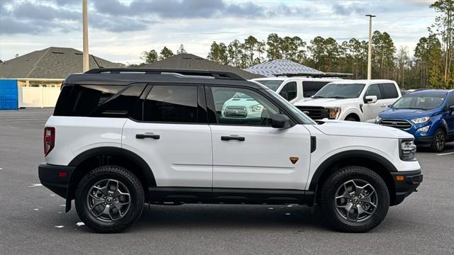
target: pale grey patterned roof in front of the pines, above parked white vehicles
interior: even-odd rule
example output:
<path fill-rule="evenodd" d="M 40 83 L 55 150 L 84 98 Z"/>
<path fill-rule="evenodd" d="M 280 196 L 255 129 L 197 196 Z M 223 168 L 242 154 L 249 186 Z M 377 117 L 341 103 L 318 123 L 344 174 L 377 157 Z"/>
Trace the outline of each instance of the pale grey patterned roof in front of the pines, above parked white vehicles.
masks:
<path fill-rule="evenodd" d="M 306 67 L 291 60 L 270 60 L 255 66 L 246 68 L 245 71 L 253 74 L 260 74 L 265 77 L 272 77 L 279 74 L 323 74 L 323 72 Z"/>

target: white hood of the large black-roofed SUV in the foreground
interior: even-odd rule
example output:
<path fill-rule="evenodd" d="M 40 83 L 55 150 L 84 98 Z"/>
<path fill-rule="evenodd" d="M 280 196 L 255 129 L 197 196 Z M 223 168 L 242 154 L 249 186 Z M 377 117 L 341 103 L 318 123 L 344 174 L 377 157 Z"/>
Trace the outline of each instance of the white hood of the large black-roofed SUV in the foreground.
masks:
<path fill-rule="evenodd" d="M 343 135 L 355 137 L 378 137 L 378 138 L 413 138 L 407 132 L 397 128 L 385 127 L 372 123 L 358 123 L 355 121 L 326 120 L 321 125 L 314 125 L 326 135 Z"/>

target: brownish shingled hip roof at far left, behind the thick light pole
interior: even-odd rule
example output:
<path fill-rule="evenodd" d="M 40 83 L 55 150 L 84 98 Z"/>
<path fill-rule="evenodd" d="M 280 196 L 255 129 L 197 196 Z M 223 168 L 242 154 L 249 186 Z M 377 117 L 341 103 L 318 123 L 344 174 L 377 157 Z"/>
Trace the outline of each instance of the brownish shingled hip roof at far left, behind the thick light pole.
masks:
<path fill-rule="evenodd" d="M 89 55 L 89 68 L 123 67 Z M 82 72 L 82 52 L 68 47 L 48 47 L 0 63 L 0 79 L 65 79 Z"/>

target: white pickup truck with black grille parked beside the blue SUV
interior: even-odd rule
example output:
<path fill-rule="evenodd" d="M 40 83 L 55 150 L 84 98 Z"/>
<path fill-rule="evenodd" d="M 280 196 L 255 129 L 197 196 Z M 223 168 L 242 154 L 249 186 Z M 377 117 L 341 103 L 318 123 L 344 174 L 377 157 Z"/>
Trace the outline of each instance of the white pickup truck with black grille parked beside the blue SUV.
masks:
<path fill-rule="evenodd" d="M 401 97 L 390 80 L 339 80 L 323 86 L 312 98 L 294 103 L 314 120 L 374 123 L 378 113 Z"/>

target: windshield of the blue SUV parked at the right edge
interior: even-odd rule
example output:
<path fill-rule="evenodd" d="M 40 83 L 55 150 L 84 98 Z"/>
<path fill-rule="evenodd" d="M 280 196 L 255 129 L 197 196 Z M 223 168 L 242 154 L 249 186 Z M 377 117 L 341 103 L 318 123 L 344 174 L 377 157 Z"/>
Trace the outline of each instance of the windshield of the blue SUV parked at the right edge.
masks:
<path fill-rule="evenodd" d="M 420 110 L 431 110 L 441 106 L 445 100 L 444 95 L 406 95 L 400 98 L 392 105 L 394 109 L 420 109 Z"/>

